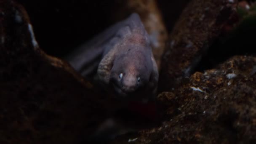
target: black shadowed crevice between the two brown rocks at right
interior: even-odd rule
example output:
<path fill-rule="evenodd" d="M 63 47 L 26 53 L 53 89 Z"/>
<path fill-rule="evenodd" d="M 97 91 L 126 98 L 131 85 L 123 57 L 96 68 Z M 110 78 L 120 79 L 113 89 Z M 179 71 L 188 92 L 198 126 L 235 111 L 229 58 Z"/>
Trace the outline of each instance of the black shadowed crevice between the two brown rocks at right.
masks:
<path fill-rule="evenodd" d="M 256 41 L 255 36 L 250 34 L 256 33 L 255 25 L 256 21 L 251 24 L 241 23 L 231 34 L 221 35 L 197 64 L 195 72 L 214 69 L 232 56 L 254 56 Z"/>

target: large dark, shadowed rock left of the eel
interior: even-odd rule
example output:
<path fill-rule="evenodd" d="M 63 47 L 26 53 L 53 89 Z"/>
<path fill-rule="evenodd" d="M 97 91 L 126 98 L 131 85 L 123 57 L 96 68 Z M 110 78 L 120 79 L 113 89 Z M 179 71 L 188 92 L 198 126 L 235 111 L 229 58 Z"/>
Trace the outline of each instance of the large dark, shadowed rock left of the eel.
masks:
<path fill-rule="evenodd" d="M 0 1 L 0 39 L 1 144 L 74 144 L 95 131 L 107 96 L 39 48 L 12 0 Z"/>

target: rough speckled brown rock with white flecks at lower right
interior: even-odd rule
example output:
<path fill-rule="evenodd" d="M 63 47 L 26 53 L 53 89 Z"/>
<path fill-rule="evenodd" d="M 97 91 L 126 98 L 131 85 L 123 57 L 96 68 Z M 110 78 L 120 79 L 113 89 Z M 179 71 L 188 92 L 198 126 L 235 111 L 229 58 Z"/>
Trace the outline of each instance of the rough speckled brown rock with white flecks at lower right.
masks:
<path fill-rule="evenodd" d="M 160 105 L 167 107 L 160 126 L 123 141 L 255 143 L 255 80 L 256 58 L 250 56 L 234 56 L 216 69 L 196 72 L 186 84 L 158 95 Z"/>

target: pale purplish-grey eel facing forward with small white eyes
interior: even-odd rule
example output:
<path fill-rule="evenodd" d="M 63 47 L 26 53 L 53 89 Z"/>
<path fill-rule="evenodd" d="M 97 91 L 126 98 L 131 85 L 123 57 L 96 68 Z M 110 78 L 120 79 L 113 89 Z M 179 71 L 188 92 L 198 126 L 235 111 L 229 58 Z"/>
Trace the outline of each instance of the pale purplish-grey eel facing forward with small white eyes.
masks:
<path fill-rule="evenodd" d="M 84 77 L 97 69 L 101 83 L 120 97 L 147 98 L 157 89 L 157 64 L 137 13 L 77 48 L 67 60 Z"/>

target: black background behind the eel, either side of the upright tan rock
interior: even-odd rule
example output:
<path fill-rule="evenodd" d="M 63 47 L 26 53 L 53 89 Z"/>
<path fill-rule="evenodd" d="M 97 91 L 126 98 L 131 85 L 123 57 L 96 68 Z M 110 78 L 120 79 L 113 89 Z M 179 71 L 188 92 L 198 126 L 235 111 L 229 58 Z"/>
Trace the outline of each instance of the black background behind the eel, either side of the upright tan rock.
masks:
<path fill-rule="evenodd" d="M 168 32 L 189 0 L 157 0 Z M 19 0 L 26 8 L 35 37 L 46 53 L 63 57 L 120 19 L 119 0 Z"/>

